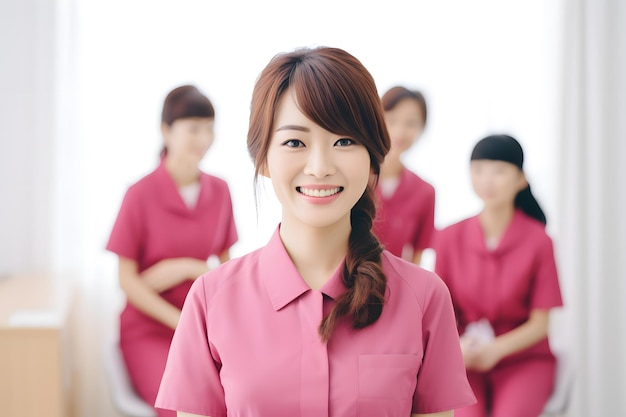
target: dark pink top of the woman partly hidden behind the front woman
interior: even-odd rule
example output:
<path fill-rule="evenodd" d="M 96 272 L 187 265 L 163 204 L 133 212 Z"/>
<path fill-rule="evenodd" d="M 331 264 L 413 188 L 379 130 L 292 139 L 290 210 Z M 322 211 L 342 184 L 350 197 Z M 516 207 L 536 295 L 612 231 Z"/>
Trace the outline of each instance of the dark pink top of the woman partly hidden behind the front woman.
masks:
<path fill-rule="evenodd" d="M 390 197 L 384 197 L 380 187 L 376 189 L 376 195 L 379 207 L 374 233 L 385 249 L 402 256 L 405 246 L 413 253 L 432 246 L 435 188 L 431 184 L 405 167 L 400 174 L 398 188 Z"/>

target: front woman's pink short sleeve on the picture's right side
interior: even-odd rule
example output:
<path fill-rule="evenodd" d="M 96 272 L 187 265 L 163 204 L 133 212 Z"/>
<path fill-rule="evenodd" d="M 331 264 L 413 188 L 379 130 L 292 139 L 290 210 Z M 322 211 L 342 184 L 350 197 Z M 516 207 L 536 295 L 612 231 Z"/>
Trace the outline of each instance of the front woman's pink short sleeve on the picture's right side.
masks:
<path fill-rule="evenodd" d="M 474 404 L 467 380 L 450 293 L 433 278 L 422 318 L 424 357 L 417 375 L 413 413 L 437 413 Z"/>

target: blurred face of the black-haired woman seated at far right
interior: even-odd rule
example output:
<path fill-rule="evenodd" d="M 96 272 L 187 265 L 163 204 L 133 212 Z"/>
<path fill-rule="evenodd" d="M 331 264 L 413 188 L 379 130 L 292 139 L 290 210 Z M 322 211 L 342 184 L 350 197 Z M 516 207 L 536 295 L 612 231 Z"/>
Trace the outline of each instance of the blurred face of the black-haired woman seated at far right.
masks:
<path fill-rule="evenodd" d="M 489 207 L 513 205 L 517 193 L 527 185 L 524 173 L 509 162 L 474 160 L 470 173 L 476 195 Z"/>

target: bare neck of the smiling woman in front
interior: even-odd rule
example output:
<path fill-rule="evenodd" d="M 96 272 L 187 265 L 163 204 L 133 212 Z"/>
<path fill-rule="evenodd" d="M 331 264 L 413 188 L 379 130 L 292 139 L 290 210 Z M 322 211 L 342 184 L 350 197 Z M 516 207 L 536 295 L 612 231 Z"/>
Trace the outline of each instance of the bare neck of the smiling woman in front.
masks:
<path fill-rule="evenodd" d="M 304 281 L 318 290 L 335 272 L 348 251 L 350 222 L 321 228 L 294 223 L 283 219 L 281 240 Z"/>

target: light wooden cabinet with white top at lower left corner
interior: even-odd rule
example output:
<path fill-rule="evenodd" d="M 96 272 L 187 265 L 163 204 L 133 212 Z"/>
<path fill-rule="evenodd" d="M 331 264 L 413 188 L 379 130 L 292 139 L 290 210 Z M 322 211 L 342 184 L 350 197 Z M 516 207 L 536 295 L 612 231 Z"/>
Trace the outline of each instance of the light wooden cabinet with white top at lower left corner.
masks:
<path fill-rule="evenodd" d="M 70 288 L 49 275 L 0 278 L 0 415 L 73 416 Z"/>

